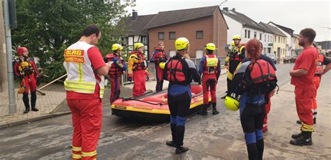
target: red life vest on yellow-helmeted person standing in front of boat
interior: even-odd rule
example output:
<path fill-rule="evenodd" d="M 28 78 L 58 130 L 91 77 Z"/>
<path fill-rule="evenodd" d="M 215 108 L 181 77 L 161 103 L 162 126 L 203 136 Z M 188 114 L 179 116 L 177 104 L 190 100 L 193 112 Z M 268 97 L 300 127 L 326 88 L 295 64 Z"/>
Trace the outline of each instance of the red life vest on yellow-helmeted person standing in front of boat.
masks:
<path fill-rule="evenodd" d="M 183 71 L 183 63 L 184 58 L 178 59 L 175 57 L 172 57 L 168 63 L 167 66 L 167 80 L 169 82 L 185 82 L 186 76 Z"/>

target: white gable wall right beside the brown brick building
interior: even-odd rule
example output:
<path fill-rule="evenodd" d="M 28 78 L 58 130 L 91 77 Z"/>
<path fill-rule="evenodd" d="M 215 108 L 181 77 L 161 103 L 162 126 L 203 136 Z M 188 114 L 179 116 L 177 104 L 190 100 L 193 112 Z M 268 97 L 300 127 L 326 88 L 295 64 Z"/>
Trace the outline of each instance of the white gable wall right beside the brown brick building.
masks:
<path fill-rule="evenodd" d="M 228 24 L 228 38 L 227 38 L 227 44 L 230 44 L 233 40 L 232 37 L 235 35 L 242 35 L 242 24 L 240 22 L 237 22 L 233 20 L 232 18 L 228 17 L 227 15 L 224 15 L 224 19 L 226 20 L 226 24 Z"/>

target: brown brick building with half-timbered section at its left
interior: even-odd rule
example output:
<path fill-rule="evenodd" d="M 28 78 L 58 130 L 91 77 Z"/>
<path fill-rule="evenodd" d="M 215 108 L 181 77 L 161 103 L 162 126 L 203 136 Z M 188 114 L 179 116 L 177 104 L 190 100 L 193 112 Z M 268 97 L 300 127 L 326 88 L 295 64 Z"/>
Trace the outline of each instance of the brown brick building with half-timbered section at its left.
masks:
<path fill-rule="evenodd" d="M 186 37 L 190 41 L 191 58 L 203 57 L 204 45 L 215 43 L 215 53 L 226 57 L 226 37 L 228 25 L 219 6 L 170 10 L 156 15 L 139 15 L 135 13 L 126 21 L 128 46 L 135 41 L 142 41 L 152 53 L 159 41 L 163 41 L 169 56 L 175 54 L 175 40 Z M 145 38 L 146 37 L 146 38 Z M 145 39 L 147 41 L 145 41 Z M 151 55 L 149 54 L 149 57 Z"/>

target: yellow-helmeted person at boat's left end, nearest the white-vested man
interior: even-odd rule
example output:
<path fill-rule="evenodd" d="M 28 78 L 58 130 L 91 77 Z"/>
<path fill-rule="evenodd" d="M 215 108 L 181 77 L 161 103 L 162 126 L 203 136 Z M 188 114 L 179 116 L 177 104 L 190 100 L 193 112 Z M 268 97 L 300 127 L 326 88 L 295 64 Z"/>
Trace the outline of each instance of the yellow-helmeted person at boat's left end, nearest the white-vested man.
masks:
<path fill-rule="evenodd" d="M 112 64 L 109 69 L 108 78 L 110 79 L 111 89 L 110 89 L 110 103 L 119 99 L 120 92 L 120 82 L 121 75 L 123 75 L 126 71 L 126 63 L 124 59 L 122 59 L 122 45 L 114 44 L 112 45 L 112 51 L 114 53 L 107 54 L 105 57 L 108 59 L 108 62 Z"/>

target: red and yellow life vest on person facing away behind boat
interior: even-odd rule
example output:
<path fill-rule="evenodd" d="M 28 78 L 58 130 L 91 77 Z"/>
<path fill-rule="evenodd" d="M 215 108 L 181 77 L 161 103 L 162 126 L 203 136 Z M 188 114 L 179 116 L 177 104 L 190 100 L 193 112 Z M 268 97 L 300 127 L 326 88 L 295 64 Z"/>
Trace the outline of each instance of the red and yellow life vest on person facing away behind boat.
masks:
<path fill-rule="evenodd" d="M 205 55 L 205 62 L 203 64 L 203 74 L 204 75 L 216 75 L 217 74 L 217 65 L 219 64 L 219 59 L 215 54 Z"/>

